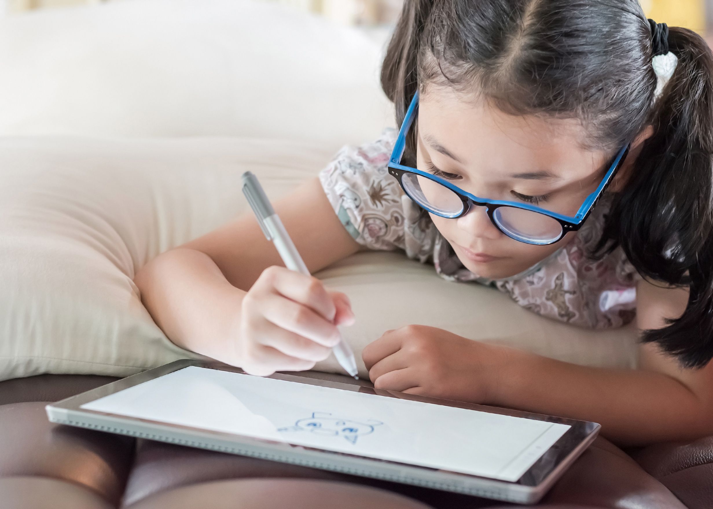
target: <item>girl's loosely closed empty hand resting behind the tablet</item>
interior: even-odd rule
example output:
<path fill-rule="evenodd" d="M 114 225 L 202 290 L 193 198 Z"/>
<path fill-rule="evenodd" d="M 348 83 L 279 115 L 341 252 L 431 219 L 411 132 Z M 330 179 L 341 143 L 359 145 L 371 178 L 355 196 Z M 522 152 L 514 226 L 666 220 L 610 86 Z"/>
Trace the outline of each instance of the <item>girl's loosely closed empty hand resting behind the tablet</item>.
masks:
<path fill-rule="evenodd" d="M 386 331 L 362 358 L 376 389 L 495 403 L 506 351 L 436 327 L 408 325 Z"/>

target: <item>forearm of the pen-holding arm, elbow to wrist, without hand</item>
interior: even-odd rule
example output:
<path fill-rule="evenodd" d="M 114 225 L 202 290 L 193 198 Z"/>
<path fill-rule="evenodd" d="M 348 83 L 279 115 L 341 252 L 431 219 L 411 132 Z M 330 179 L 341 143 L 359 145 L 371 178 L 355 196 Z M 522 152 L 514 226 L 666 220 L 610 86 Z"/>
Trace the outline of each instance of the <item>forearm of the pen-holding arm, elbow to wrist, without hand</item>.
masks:
<path fill-rule="evenodd" d="M 163 253 L 134 277 L 141 301 L 168 339 L 185 349 L 225 358 L 245 292 L 197 250 Z"/>

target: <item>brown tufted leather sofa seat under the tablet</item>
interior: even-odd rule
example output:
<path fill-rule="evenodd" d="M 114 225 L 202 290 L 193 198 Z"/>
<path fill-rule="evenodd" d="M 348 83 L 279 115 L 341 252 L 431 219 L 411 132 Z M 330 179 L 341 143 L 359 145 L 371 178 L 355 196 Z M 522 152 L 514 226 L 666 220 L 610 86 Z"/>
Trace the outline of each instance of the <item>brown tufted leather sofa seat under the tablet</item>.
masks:
<path fill-rule="evenodd" d="M 0 382 L 0 509 L 507 506 L 48 422 L 46 402 L 113 380 L 106 376 L 41 375 Z M 627 453 L 597 438 L 535 507 L 712 509 L 713 437 Z"/>

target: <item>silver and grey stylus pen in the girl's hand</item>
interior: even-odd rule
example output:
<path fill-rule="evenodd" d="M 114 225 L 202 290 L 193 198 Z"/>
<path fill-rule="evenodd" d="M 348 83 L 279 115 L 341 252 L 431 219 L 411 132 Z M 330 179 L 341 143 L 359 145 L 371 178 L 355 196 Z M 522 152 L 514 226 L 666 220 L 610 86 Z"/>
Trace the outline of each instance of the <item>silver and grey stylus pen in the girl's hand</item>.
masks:
<path fill-rule="evenodd" d="M 297 248 L 294 247 L 292 239 L 289 238 L 287 230 L 284 229 L 282 221 L 279 220 L 279 216 L 272 208 L 270 200 L 267 199 L 265 191 L 262 190 L 262 185 L 257 181 L 257 177 L 249 171 L 242 174 L 242 192 L 247 198 L 247 202 L 250 203 L 250 208 L 252 212 L 255 212 L 255 217 L 257 217 L 257 224 L 262 228 L 262 232 L 265 233 L 267 240 L 272 240 L 275 244 L 279 256 L 282 257 L 284 266 L 288 269 L 302 272 L 309 276 L 309 270 L 307 265 L 302 261 L 302 257 L 299 256 Z M 337 346 L 332 349 L 334 356 L 337 357 L 339 364 L 347 371 L 350 375 L 354 376 L 355 379 L 359 379 L 356 370 L 356 361 L 354 360 L 354 354 L 349 345 L 344 342 L 344 339 L 339 341 Z"/>

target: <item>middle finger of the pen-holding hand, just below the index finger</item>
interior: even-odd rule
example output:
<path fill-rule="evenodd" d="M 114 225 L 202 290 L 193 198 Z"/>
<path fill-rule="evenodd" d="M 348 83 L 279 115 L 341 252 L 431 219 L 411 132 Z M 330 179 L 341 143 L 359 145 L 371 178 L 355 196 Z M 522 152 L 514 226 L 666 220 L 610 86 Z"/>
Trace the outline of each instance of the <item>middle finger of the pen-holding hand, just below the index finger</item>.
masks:
<path fill-rule="evenodd" d="M 312 309 L 277 295 L 265 298 L 262 312 L 269 322 L 322 346 L 332 348 L 341 338 L 336 325 L 328 322 Z"/>

